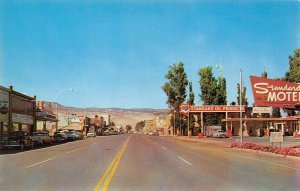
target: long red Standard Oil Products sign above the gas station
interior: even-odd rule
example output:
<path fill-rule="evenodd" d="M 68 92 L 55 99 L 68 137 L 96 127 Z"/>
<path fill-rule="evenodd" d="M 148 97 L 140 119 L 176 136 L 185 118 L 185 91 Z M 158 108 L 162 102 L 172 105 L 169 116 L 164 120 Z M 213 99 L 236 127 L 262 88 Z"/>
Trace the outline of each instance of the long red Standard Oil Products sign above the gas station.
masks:
<path fill-rule="evenodd" d="M 187 108 L 186 108 L 187 107 Z M 183 113 L 181 108 L 185 108 L 188 112 L 192 113 L 201 113 L 201 112 L 240 112 L 240 106 L 238 105 L 204 105 L 204 106 L 195 106 L 195 105 L 181 105 L 180 112 Z M 242 112 L 245 112 L 245 106 L 242 106 Z"/>

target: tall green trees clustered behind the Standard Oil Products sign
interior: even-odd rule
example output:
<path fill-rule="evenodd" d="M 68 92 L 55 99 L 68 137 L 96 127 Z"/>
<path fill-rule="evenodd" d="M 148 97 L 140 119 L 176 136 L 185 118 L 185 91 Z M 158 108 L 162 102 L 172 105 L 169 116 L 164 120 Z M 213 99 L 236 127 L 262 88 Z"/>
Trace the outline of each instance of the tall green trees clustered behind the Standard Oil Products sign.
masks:
<path fill-rule="evenodd" d="M 227 92 L 226 92 L 226 79 L 223 77 L 215 78 L 213 75 L 212 67 L 207 66 L 198 71 L 200 76 L 199 85 L 201 94 L 199 95 L 203 105 L 226 105 Z M 173 109 L 174 115 L 171 122 L 175 123 L 180 134 L 186 134 L 187 123 L 190 121 L 190 130 L 192 132 L 198 131 L 195 129 L 196 118 L 200 116 L 190 115 L 190 119 L 183 117 L 179 113 L 179 107 L 182 103 L 186 102 L 189 105 L 195 105 L 195 94 L 193 92 L 193 84 L 187 79 L 187 74 L 184 70 L 184 63 L 179 62 L 169 67 L 168 73 L 165 75 L 168 82 L 166 82 L 162 89 L 165 91 L 168 100 L 167 104 L 170 109 Z M 188 88 L 188 97 L 187 97 Z M 224 114 L 205 113 L 204 124 L 220 124 L 221 118 Z M 175 120 L 174 120 L 175 117 Z"/>

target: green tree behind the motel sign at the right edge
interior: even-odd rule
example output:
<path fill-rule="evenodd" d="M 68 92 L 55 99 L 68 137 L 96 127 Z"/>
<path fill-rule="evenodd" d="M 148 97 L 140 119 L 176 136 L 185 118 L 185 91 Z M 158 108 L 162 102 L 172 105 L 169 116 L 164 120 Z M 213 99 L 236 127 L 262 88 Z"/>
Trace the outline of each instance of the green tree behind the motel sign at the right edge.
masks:
<path fill-rule="evenodd" d="M 293 56 L 289 56 L 289 65 L 290 67 L 285 73 L 284 80 L 300 83 L 300 49 L 295 50 Z"/>

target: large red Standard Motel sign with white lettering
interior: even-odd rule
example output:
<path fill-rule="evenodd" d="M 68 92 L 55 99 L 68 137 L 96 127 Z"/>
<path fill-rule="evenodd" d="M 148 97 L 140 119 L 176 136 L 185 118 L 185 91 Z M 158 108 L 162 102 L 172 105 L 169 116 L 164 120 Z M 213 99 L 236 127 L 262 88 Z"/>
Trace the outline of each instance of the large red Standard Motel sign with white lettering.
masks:
<path fill-rule="evenodd" d="M 255 106 L 295 107 L 300 104 L 300 84 L 250 77 Z"/>

